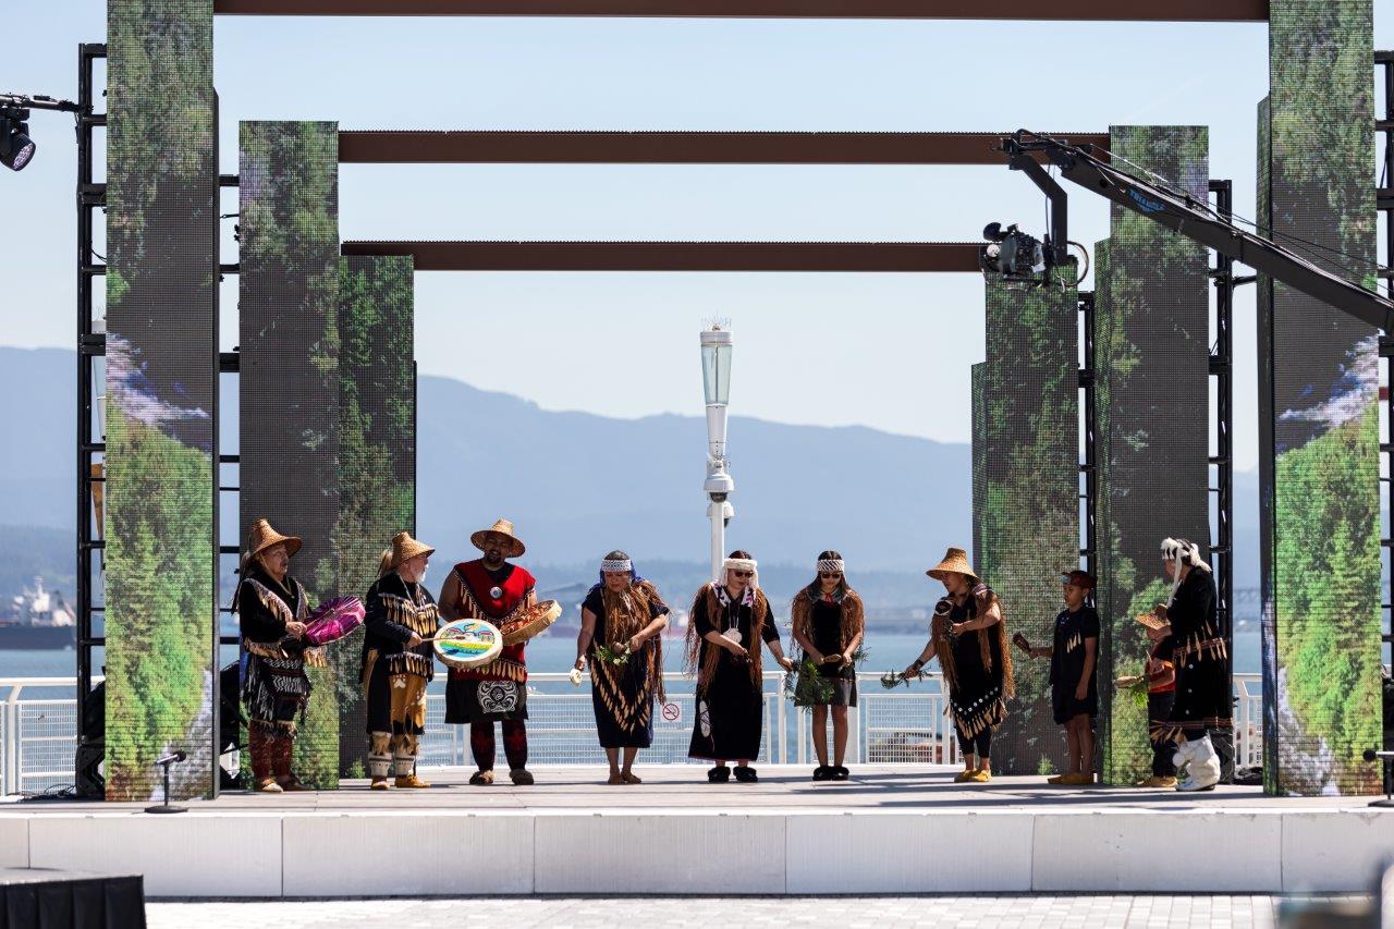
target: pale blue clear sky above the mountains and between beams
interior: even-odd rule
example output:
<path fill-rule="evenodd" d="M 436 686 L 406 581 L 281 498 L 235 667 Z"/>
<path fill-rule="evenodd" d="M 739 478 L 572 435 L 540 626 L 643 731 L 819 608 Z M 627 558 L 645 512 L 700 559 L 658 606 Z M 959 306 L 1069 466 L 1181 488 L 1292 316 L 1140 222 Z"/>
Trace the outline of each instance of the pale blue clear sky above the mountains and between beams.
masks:
<path fill-rule="evenodd" d="M 75 98 L 99 0 L 13 4 L 0 92 Z M 1394 0 L 1376 3 L 1394 47 Z M 1105 131 L 1210 127 L 1211 177 L 1253 215 L 1260 24 L 241 18 L 216 22 L 222 172 L 240 119 L 343 128 Z M 105 73 L 102 73 L 105 75 Z M 99 78 L 102 80 L 102 78 Z M 1373 81 L 1373 75 L 1372 75 Z M 74 342 L 74 145 L 36 113 L 35 162 L 0 172 L 0 345 Z M 98 133 L 100 137 L 100 133 Z M 103 155 L 99 152 L 98 163 Z M 1374 152 L 1372 151 L 1372 177 Z M 236 191 L 223 192 L 236 211 Z M 1071 197 L 1072 239 L 1107 206 Z M 977 240 L 1044 232 L 1044 199 L 1004 167 L 360 166 L 340 173 L 351 239 Z M 233 261 L 231 220 L 223 261 Z M 102 251 L 100 241 L 98 251 Z M 1257 462 L 1253 293 L 1236 307 L 1236 466 Z M 237 339 L 237 279 L 223 347 Z M 417 275 L 421 372 L 552 410 L 701 413 L 697 333 L 735 332 L 732 411 L 963 442 L 983 357 L 977 275 Z M 733 435 L 732 442 L 739 442 Z"/>

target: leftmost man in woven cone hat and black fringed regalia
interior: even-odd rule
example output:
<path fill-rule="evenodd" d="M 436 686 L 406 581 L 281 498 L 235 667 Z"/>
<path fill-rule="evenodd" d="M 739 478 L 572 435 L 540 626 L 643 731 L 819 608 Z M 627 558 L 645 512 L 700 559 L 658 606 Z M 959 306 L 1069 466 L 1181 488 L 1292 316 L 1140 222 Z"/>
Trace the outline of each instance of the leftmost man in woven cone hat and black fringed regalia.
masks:
<path fill-rule="evenodd" d="M 290 771 L 296 718 L 309 703 L 307 660 L 325 664 L 319 649 L 305 649 L 305 589 L 291 577 L 297 536 L 282 536 L 265 519 L 252 523 L 243 554 L 233 611 L 241 617 L 243 703 L 252 780 L 262 794 L 308 791 Z"/>

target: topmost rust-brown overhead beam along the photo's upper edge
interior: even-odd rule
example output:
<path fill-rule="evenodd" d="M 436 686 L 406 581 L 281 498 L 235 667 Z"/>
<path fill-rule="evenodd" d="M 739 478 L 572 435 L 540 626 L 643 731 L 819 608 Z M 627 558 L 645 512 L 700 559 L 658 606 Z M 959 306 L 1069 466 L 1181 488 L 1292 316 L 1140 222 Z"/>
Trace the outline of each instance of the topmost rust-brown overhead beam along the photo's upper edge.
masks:
<path fill-rule="evenodd" d="M 223 15 L 1267 22 L 1267 0 L 215 0 Z"/>

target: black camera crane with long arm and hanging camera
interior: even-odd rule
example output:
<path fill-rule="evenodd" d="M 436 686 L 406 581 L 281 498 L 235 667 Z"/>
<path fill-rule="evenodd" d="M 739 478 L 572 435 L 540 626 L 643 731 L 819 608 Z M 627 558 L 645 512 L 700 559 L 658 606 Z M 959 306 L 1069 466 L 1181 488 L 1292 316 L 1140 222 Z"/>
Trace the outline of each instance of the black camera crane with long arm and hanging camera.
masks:
<path fill-rule="evenodd" d="M 1066 194 L 1037 160 L 1037 155 L 1043 155 L 1065 180 L 1394 335 L 1394 301 L 1326 271 L 1270 239 L 1241 229 L 1211 211 L 1207 202 L 1112 167 L 1094 156 L 1092 145 L 1071 145 L 1018 130 L 1002 139 L 999 149 L 1008 155 L 1008 166 L 1030 177 L 1050 199 L 1050 234 L 1039 241 L 1016 226 L 1002 229 L 999 223 L 991 223 L 983 230 L 983 237 L 990 241 L 979 254 L 983 272 L 988 276 L 1041 285 L 1051 268 L 1068 259 Z"/>

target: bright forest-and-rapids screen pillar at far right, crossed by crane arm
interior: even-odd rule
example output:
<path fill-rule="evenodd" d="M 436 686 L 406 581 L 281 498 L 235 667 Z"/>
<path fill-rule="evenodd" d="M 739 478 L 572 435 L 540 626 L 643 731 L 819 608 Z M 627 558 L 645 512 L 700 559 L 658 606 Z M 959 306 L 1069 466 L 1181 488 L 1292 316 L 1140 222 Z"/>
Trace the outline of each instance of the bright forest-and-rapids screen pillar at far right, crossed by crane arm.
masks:
<path fill-rule="evenodd" d="M 1260 223 L 1373 287 L 1372 3 L 1274 0 L 1269 43 Z M 1361 753 L 1381 739 L 1377 335 L 1267 280 L 1259 332 L 1260 470 L 1273 488 L 1262 511 L 1266 787 L 1376 792 Z"/>

